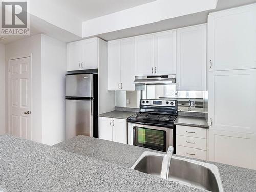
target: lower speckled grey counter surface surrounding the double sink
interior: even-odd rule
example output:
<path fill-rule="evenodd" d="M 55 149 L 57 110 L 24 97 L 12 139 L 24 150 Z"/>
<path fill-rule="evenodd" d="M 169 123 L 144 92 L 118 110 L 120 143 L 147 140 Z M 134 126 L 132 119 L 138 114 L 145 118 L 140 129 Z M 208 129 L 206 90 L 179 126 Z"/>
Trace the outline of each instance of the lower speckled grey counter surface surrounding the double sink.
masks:
<path fill-rule="evenodd" d="M 131 146 L 82 135 L 79 135 L 68 141 L 61 142 L 54 146 L 62 148 L 63 150 L 67 150 L 69 152 L 107 161 L 127 168 L 132 167 L 132 165 L 136 162 L 136 160 L 144 151 L 154 151 L 148 150 L 147 148 Z M 195 160 L 211 163 L 219 168 L 225 192 L 256 191 L 256 170 L 198 159 Z M 181 191 L 190 190 L 192 189 L 190 188 L 189 190 L 187 189 Z"/>

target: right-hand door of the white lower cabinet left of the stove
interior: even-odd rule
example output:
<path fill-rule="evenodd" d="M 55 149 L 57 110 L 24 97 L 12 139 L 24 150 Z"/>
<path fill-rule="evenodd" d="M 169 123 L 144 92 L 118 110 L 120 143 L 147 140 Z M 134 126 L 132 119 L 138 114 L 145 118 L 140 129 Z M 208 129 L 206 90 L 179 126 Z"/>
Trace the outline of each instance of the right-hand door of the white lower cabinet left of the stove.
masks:
<path fill-rule="evenodd" d="M 113 119 L 113 141 L 127 144 L 127 122 L 125 119 Z"/>

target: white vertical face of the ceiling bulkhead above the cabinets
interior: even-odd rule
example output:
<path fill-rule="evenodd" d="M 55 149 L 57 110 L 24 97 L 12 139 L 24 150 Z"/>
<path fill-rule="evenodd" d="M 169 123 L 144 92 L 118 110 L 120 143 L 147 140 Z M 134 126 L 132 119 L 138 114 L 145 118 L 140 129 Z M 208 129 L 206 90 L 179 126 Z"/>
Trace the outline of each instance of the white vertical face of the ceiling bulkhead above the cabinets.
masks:
<path fill-rule="evenodd" d="M 157 0 L 83 22 L 83 37 L 160 22 L 216 8 L 216 0 Z"/>

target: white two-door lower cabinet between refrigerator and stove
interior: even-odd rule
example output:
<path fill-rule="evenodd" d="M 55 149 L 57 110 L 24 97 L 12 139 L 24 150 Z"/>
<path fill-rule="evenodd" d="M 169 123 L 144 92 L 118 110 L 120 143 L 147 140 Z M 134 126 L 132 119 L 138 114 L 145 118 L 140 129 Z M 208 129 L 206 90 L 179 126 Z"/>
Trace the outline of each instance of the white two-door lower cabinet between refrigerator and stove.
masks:
<path fill-rule="evenodd" d="M 127 144 L 126 120 L 99 117 L 99 139 Z"/>

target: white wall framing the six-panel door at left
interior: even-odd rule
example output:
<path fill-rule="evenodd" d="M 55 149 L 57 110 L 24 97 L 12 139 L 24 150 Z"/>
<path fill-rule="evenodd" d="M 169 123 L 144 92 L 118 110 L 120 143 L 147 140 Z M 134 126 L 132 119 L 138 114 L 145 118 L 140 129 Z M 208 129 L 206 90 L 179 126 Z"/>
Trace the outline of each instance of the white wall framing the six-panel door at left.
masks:
<path fill-rule="evenodd" d="M 8 60 L 30 56 L 32 54 L 32 140 L 36 142 L 42 141 L 41 126 L 41 34 L 31 36 L 22 40 L 15 41 L 6 45 L 6 66 Z M 6 98 L 8 98 L 8 67 L 6 71 Z M 9 114 L 8 104 L 6 100 L 6 114 Z M 9 127 L 8 115 L 6 115 L 6 124 Z"/>

